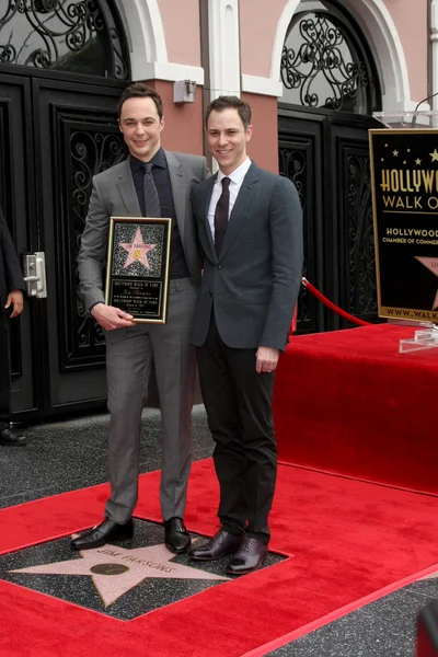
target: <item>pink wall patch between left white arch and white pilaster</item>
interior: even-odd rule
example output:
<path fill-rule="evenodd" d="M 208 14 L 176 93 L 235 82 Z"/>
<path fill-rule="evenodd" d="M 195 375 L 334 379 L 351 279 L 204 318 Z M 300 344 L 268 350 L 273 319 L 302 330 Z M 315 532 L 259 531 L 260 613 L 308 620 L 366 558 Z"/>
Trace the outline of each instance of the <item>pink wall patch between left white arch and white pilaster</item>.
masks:
<path fill-rule="evenodd" d="M 158 0 L 168 61 L 200 66 L 199 0 Z"/>

